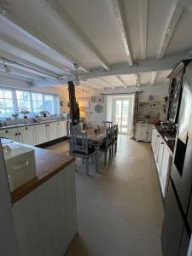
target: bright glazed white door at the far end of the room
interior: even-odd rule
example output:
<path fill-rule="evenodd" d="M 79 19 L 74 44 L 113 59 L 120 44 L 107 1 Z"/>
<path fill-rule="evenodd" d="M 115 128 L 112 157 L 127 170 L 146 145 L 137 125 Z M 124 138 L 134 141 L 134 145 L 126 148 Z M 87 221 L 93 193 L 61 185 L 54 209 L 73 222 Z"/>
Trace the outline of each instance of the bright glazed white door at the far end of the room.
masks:
<path fill-rule="evenodd" d="M 113 99 L 113 123 L 119 125 L 119 133 L 130 133 L 131 112 L 131 97 L 118 97 Z"/>

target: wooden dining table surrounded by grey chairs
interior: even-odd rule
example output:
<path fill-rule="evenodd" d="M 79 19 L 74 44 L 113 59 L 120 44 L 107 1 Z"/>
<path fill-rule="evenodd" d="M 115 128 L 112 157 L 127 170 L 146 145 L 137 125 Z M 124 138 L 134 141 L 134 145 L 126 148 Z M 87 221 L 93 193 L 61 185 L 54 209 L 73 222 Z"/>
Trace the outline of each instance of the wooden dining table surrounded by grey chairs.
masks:
<path fill-rule="evenodd" d="M 107 131 L 106 127 L 100 127 L 99 131 L 93 128 L 81 131 L 87 134 L 88 146 L 92 146 L 95 148 L 96 172 L 99 172 L 99 155 L 100 155 L 99 150 L 102 143 L 104 143 L 106 140 L 106 131 Z M 70 140 L 70 138 L 71 137 L 69 135 L 68 139 Z"/>

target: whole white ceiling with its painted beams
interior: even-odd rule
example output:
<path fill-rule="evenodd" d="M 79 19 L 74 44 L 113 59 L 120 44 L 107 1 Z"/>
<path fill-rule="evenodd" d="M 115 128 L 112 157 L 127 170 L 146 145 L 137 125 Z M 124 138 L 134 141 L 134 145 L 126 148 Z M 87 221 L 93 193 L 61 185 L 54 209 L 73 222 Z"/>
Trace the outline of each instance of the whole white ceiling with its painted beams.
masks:
<path fill-rule="evenodd" d="M 192 49 L 192 0 L 3 0 L 3 7 L 0 57 L 17 63 L 4 60 L 5 73 L 0 58 L 0 75 L 38 86 L 67 84 L 73 63 L 81 84 L 96 89 L 164 84 Z"/>

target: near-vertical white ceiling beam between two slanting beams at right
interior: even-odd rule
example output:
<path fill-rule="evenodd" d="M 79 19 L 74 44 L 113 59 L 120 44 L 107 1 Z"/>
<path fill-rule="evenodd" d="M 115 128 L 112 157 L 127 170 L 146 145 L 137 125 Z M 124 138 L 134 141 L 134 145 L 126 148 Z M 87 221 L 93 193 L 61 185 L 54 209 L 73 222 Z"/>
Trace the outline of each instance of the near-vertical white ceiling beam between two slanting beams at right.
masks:
<path fill-rule="evenodd" d="M 142 59 L 146 59 L 148 42 L 148 0 L 139 0 L 139 21 Z"/>

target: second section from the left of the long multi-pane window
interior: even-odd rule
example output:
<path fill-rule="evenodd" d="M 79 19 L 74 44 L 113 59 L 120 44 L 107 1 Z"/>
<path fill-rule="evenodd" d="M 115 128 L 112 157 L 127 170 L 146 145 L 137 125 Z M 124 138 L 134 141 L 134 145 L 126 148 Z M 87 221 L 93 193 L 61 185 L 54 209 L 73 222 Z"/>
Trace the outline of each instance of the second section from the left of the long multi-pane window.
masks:
<path fill-rule="evenodd" d="M 18 111 L 26 109 L 32 112 L 31 97 L 29 91 L 16 90 Z"/>

